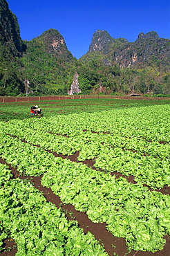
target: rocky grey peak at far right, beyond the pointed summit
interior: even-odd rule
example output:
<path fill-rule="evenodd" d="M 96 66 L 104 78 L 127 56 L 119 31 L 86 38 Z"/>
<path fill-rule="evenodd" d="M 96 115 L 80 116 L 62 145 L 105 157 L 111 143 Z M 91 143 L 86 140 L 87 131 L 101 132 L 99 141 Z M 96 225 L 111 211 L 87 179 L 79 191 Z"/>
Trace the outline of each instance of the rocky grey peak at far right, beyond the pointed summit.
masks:
<path fill-rule="evenodd" d="M 120 67 L 149 64 L 152 61 L 169 64 L 170 40 L 160 38 L 155 31 L 147 34 L 141 32 L 134 43 L 115 49 L 113 61 Z"/>

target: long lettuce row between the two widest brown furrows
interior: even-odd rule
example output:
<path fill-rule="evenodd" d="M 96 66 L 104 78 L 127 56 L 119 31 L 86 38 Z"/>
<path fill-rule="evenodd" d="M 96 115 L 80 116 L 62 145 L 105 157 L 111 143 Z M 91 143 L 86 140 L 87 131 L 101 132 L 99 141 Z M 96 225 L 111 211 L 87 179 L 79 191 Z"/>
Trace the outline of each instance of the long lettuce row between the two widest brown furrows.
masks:
<path fill-rule="evenodd" d="M 161 250 L 170 234 L 169 195 L 150 192 L 140 184 L 115 179 L 82 163 L 56 158 L 44 149 L 1 133 L 0 156 L 20 173 L 39 176 L 63 203 L 75 205 L 95 223 L 106 222 L 117 237 L 134 250 Z"/>

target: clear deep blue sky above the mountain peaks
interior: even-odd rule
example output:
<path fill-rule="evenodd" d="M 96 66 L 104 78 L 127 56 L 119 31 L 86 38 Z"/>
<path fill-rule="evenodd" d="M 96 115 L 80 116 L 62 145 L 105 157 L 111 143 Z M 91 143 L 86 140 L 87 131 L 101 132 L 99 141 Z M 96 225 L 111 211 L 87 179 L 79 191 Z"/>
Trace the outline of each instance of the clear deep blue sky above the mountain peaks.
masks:
<path fill-rule="evenodd" d="M 86 54 L 96 30 L 134 42 L 140 32 L 170 39 L 170 0 L 7 0 L 21 38 L 30 41 L 54 28 L 74 57 Z"/>

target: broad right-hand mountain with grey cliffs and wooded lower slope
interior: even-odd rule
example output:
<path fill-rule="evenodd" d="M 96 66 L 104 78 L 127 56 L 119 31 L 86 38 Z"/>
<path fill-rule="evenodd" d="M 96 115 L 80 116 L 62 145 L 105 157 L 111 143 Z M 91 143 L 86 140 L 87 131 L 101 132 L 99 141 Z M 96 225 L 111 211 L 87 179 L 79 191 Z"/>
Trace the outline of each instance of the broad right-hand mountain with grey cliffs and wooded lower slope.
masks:
<path fill-rule="evenodd" d="M 97 30 L 80 60 L 104 75 L 100 84 L 105 92 L 170 93 L 170 40 L 159 38 L 154 31 L 140 33 L 129 43 Z"/>

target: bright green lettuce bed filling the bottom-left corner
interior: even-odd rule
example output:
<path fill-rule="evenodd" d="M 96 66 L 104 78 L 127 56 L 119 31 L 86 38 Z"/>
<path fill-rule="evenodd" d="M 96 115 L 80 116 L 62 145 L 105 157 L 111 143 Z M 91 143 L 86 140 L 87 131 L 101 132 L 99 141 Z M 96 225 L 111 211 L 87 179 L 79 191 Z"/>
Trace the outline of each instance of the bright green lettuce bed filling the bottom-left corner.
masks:
<path fill-rule="evenodd" d="M 67 221 L 64 212 L 30 182 L 12 179 L 6 165 L 0 164 L 0 250 L 9 236 L 17 244 L 17 256 L 24 255 L 107 255 L 77 221 Z"/>

